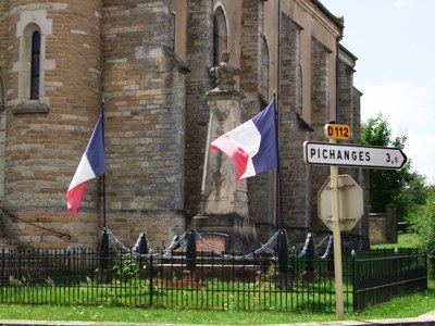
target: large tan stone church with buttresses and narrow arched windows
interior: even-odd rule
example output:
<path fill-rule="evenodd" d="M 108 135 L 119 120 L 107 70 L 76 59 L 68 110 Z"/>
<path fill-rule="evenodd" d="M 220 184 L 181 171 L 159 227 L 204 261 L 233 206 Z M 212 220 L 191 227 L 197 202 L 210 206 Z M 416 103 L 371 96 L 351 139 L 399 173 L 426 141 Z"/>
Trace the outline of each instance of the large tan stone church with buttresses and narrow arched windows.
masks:
<path fill-rule="evenodd" d="M 302 145 L 326 142 L 332 121 L 350 126 L 348 142 L 360 140 L 357 58 L 340 45 L 344 26 L 319 0 L 0 1 L 0 243 L 95 246 L 107 227 L 129 246 L 145 233 L 162 247 L 191 228 L 210 68 L 226 49 L 241 70 L 241 122 L 276 99 L 279 177 L 246 181 L 256 237 L 285 228 L 295 244 L 308 233 L 320 240 L 328 230 L 316 198 L 330 167 L 306 164 Z M 72 216 L 65 192 L 102 99 L 104 178 L 88 181 Z M 366 188 L 362 170 L 339 173 Z M 368 244 L 366 212 L 345 242 Z"/>

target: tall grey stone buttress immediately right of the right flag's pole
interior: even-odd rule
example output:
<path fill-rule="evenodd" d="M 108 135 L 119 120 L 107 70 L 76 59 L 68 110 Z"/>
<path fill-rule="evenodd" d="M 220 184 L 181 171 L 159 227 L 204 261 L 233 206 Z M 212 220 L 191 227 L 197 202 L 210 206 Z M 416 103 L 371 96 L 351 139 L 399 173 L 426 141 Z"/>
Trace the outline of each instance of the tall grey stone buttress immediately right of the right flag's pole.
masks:
<path fill-rule="evenodd" d="M 308 204 L 311 191 L 307 187 L 309 166 L 303 163 L 302 143 L 310 138 L 312 128 L 302 118 L 302 95 L 298 91 L 303 83 L 300 26 L 284 13 L 282 26 L 279 145 L 283 216 L 279 216 L 278 225 L 288 230 L 293 241 L 301 243 L 310 230 L 311 206 Z"/>

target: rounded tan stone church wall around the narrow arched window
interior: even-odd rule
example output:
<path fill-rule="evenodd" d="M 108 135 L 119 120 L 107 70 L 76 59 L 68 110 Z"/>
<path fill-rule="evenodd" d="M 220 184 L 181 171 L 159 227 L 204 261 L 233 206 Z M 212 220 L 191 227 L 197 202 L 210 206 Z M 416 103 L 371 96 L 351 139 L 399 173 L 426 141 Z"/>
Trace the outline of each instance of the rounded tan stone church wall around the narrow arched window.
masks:
<path fill-rule="evenodd" d="M 94 243 L 98 183 L 88 185 L 83 216 L 72 220 L 64 198 L 100 111 L 101 1 L 1 3 L 9 25 L 1 43 L 8 48 L 1 61 L 8 72 L 3 208 L 21 218 L 12 224 L 21 243 L 67 246 L 47 229 Z M 41 32 L 40 97 L 29 100 L 23 88 L 29 62 L 22 52 L 35 24 Z"/>

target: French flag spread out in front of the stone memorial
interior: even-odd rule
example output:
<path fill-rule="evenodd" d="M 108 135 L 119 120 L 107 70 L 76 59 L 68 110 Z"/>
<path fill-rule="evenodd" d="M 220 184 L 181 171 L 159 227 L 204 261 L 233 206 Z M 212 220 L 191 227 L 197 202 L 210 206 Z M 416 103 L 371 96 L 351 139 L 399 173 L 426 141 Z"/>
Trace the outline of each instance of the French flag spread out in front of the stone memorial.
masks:
<path fill-rule="evenodd" d="M 275 101 L 253 118 L 219 137 L 210 147 L 232 159 L 236 181 L 278 167 Z"/>

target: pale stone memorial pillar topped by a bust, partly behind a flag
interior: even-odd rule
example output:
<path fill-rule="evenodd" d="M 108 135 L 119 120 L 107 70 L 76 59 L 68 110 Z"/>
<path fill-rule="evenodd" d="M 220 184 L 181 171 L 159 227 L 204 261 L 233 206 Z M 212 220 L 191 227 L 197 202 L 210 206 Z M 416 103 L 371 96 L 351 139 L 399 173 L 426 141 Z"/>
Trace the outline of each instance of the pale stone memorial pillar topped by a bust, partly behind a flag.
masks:
<path fill-rule="evenodd" d="M 240 125 L 241 100 L 234 87 L 241 70 L 229 63 L 224 51 L 222 62 L 210 70 L 216 87 L 206 93 L 210 121 L 208 125 L 204 168 L 201 187 L 201 212 L 192 218 L 192 228 L 219 250 L 249 251 L 258 248 L 253 221 L 249 217 L 246 179 L 236 179 L 232 160 L 210 143 Z"/>

